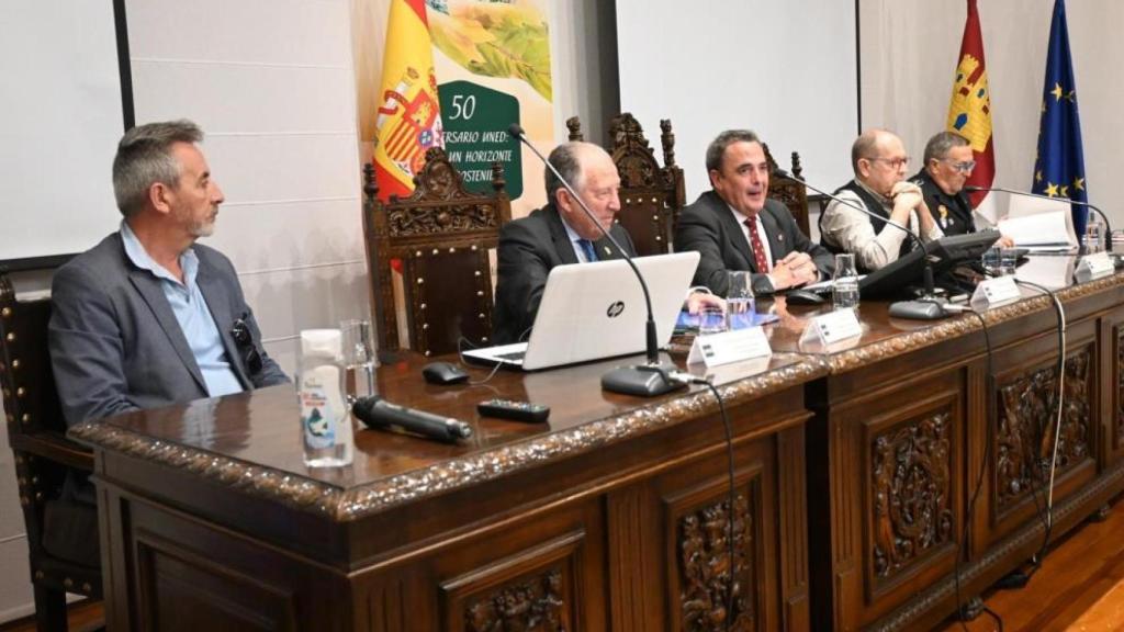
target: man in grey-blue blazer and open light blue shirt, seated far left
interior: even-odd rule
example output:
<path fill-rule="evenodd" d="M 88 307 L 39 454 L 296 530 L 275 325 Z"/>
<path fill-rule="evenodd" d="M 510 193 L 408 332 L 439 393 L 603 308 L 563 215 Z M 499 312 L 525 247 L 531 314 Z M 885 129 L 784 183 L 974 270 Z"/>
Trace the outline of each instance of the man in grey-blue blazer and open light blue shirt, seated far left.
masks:
<path fill-rule="evenodd" d="M 230 261 L 196 244 L 223 202 L 201 141 L 187 120 L 127 132 L 120 229 L 55 273 L 51 359 L 69 424 L 288 381 Z"/>

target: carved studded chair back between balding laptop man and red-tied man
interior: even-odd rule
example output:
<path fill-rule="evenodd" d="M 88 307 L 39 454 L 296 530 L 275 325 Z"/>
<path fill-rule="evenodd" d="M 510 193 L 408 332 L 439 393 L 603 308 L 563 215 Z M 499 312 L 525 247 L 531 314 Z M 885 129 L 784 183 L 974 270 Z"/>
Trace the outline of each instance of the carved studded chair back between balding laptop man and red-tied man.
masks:
<path fill-rule="evenodd" d="M 571 141 L 583 141 L 578 117 L 566 120 Z M 655 160 L 640 123 L 628 112 L 609 121 L 608 147 L 620 174 L 619 222 L 640 255 L 671 252 L 671 235 L 687 195 L 683 170 L 676 165 L 676 135 L 671 121 L 660 121 L 663 166 Z"/>

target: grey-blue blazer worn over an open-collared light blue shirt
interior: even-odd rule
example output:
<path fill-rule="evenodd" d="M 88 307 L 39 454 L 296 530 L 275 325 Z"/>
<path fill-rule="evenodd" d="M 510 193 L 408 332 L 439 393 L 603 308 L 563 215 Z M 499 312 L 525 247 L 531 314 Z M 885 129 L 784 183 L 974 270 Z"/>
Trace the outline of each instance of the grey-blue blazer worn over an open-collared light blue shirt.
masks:
<path fill-rule="evenodd" d="M 199 258 L 196 281 L 243 388 L 288 381 L 261 346 L 261 332 L 230 261 L 214 249 L 192 247 Z M 51 361 L 69 424 L 208 397 L 160 281 L 133 265 L 120 233 L 60 268 L 52 301 Z M 246 322 L 262 355 L 262 370 L 254 374 L 230 337 L 236 318 Z"/>

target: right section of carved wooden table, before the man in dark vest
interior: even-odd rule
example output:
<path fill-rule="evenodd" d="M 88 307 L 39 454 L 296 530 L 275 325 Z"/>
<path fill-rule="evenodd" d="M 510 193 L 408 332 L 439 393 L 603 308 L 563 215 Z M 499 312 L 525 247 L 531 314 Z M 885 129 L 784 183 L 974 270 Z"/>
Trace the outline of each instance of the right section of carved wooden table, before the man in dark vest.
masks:
<path fill-rule="evenodd" d="M 1053 278 L 1073 269 L 1068 256 L 1032 263 Z M 1124 276 L 1057 295 L 1066 368 L 1051 540 L 1124 490 Z M 969 603 L 1041 548 L 1058 322 L 1050 298 L 1023 296 L 986 313 L 987 338 L 973 315 L 921 323 L 864 303 L 862 337 L 828 350 L 799 341 L 815 312 L 781 310 L 772 347 L 828 370 L 806 398 L 815 630 L 927 630 L 955 610 L 958 556 Z"/>

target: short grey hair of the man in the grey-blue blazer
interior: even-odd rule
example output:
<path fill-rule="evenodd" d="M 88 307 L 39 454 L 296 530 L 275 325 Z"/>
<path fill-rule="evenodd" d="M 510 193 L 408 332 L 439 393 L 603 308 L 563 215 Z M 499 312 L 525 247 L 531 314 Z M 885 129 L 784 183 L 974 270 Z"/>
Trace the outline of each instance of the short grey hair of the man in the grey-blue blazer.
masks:
<path fill-rule="evenodd" d="M 202 139 L 202 129 L 187 119 L 138 125 L 126 132 L 114 157 L 114 197 L 121 215 L 140 210 L 153 184 L 176 186 L 181 168 L 172 145 Z"/>

